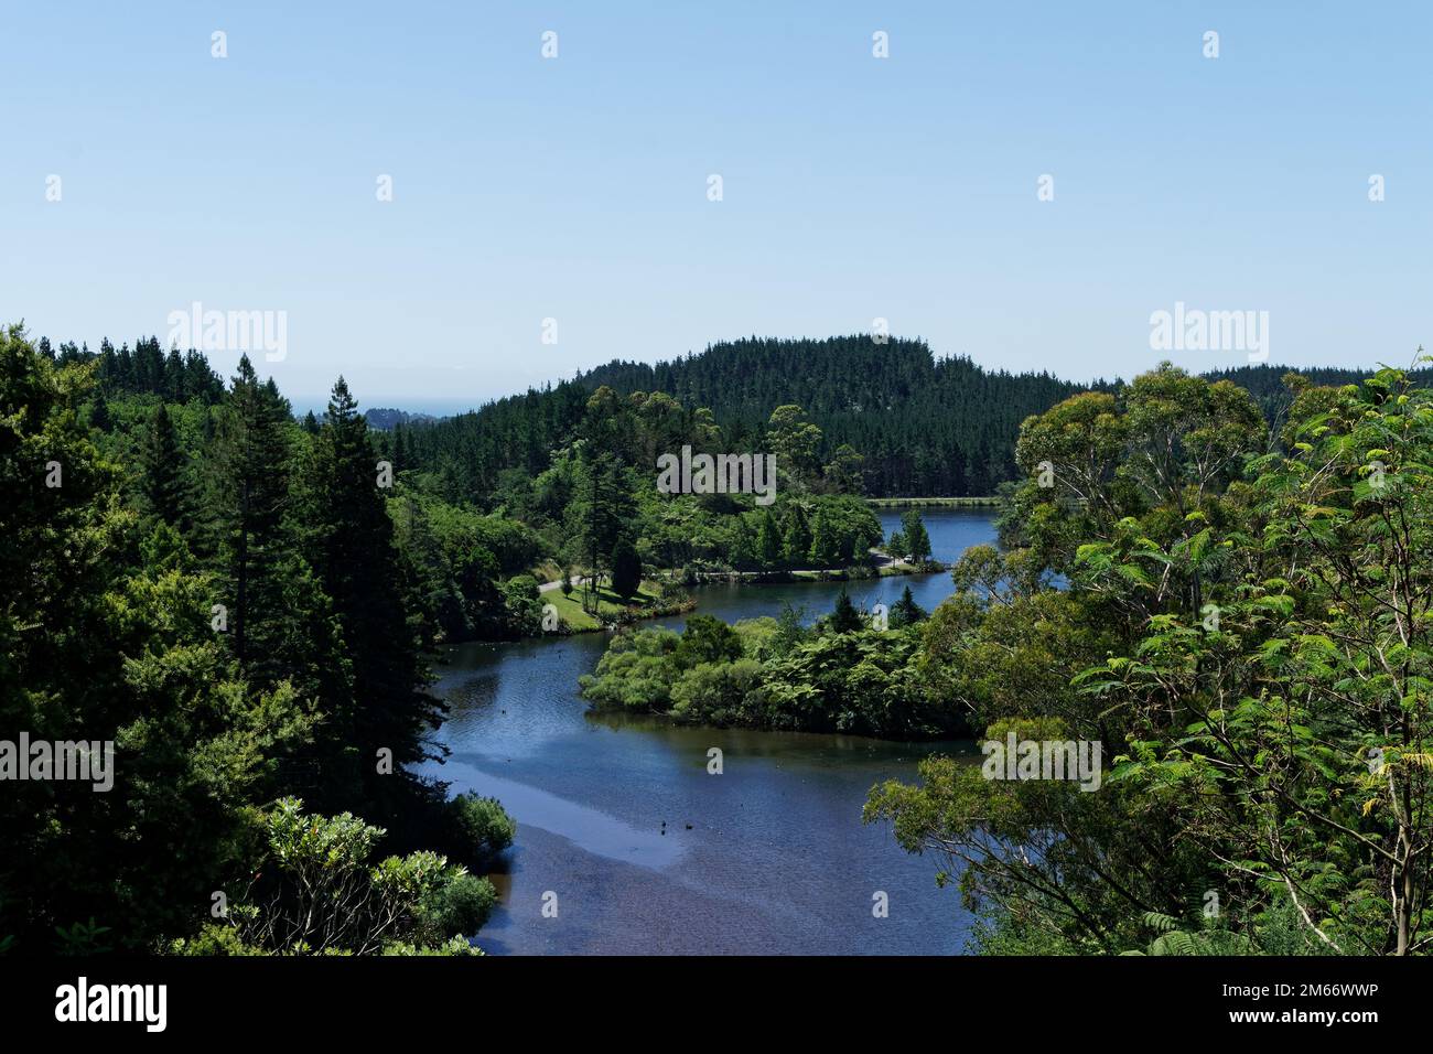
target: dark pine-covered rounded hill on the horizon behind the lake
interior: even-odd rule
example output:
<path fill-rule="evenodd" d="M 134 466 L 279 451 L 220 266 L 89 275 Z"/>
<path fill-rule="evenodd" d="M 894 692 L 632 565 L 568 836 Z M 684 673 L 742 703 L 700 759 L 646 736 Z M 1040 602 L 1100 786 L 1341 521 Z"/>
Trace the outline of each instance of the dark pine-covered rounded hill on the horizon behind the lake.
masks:
<path fill-rule="evenodd" d="M 1288 404 L 1288 369 L 1245 366 L 1207 376 L 1247 387 L 1274 419 Z M 1347 384 L 1367 371 L 1300 373 L 1315 384 Z M 795 403 L 821 429 L 823 462 L 843 443 L 864 456 L 873 496 L 993 493 L 1013 478 L 1020 422 L 1078 391 L 1121 386 L 986 370 L 966 357 L 937 359 L 920 340 L 751 337 L 655 366 L 615 360 L 476 413 L 404 427 L 401 449 L 414 466 L 446 466 L 470 493 L 486 493 L 504 469 L 547 467 L 550 450 L 570 437 L 588 396 L 603 384 L 620 394 L 662 391 L 688 412 L 709 409 L 732 452 L 761 449 L 771 412 Z"/>

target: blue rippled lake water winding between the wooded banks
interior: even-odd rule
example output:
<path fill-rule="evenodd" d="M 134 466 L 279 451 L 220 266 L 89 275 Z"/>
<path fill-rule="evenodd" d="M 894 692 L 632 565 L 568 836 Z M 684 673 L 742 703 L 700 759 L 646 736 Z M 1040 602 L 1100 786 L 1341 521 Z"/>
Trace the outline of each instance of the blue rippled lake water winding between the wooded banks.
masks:
<path fill-rule="evenodd" d="M 923 509 L 937 559 L 995 538 L 989 509 Z M 898 512 L 881 511 L 887 533 Z M 894 602 L 910 585 L 930 609 L 947 574 L 847 584 L 857 605 Z M 735 621 L 782 602 L 828 612 L 841 584 L 719 585 L 698 611 Z M 681 627 L 681 618 L 662 619 Z M 502 905 L 479 934 L 490 954 L 954 954 L 969 918 L 936 860 L 904 853 L 861 823 L 873 784 L 914 780 L 929 753 L 974 754 L 969 741 L 888 743 L 856 736 L 672 726 L 590 714 L 577 675 L 606 634 L 450 651 L 436 690 L 451 713 L 451 750 L 427 774 L 453 793 L 494 794 L 517 820 L 493 875 Z M 724 773 L 708 774 L 721 747 Z M 873 895 L 888 896 L 874 918 Z M 545 918 L 545 895 L 556 918 Z M 546 898 L 552 902 L 552 898 Z"/>

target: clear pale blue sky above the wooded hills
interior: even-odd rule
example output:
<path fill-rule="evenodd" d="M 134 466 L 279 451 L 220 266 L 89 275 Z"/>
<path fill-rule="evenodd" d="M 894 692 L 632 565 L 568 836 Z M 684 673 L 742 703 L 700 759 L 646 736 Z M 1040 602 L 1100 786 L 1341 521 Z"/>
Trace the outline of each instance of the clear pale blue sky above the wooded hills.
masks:
<path fill-rule="evenodd" d="M 1078 381 L 1248 361 L 1155 347 L 1176 304 L 1273 363 L 1433 348 L 1427 3 L 0 0 L 0 320 L 268 313 L 299 409 L 878 318 Z"/>

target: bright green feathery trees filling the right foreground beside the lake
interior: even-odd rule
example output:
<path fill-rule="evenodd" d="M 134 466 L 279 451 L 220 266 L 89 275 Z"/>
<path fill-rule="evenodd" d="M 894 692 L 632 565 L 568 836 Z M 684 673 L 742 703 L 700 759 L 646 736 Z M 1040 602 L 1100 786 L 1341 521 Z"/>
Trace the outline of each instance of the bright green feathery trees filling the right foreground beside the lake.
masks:
<path fill-rule="evenodd" d="M 1022 427 L 1005 551 L 962 558 L 919 665 L 987 736 L 1112 767 L 1080 793 L 933 759 L 867 803 L 993 946 L 1426 946 L 1433 397 L 1397 370 L 1290 387 L 1273 446 L 1248 393 L 1169 366 Z"/>

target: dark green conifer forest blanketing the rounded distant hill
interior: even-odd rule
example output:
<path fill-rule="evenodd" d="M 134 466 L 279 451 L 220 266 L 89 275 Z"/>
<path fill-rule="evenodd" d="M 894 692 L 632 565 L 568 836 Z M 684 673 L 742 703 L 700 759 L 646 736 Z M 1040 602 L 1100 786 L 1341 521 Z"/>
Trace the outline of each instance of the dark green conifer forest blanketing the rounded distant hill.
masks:
<path fill-rule="evenodd" d="M 1277 387 L 1277 373 L 1273 380 Z M 497 492 L 507 469 L 537 478 L 549 453 L 583 427 L 588 402 L 603 387 L 609 419 L 631 413 L 631 422 L 603 427 L 603 442 L 620 445 L 622 457 L 643 470 L 684 442 L 696 450 L 775 450 L 782 490 L 845 495 L 993 495 L 1016 475 L 1020 422 L 1078 390 L 1043 373 L 936 359 L 916 340 L 748 338 L 653 366 L 613 361 L 477 413 L 411 426 L 410 459 L 424 472 L 451 463 L 459 493 L 470 496 Z M 794 552 L 808 551 L 810 542 Z M 798 566 L 791 552 L 787 559 Z"/>

